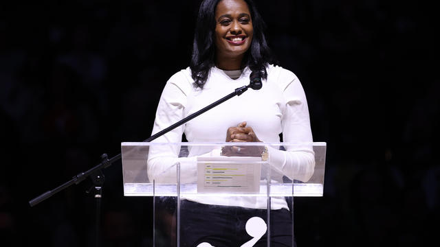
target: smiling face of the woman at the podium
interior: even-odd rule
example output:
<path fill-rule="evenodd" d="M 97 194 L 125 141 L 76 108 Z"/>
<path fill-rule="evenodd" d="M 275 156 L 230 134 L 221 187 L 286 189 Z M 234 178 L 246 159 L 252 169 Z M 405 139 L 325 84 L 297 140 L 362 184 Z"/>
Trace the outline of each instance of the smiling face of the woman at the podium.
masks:
<path fill-rule="evenodd" d="M 254 27 L 248 4 L 243 0 L 222 0 L 215 9 L 217 58 L 240 58 L 248 51 Z"/>

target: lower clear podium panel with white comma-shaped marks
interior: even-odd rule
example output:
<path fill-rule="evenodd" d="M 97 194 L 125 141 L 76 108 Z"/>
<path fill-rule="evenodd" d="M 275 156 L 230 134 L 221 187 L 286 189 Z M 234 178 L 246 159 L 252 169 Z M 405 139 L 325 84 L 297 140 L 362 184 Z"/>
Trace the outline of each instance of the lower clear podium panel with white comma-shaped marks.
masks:
<path fill-rule="evenodd" d="M 234 197 L 215 199 L 227 203 Z M 261 199 L 248 197 L 245 201 Z M 271 198 L 266 199 L 274 207 Z M 156 196 L 153 244 L 156 247 L 295 246 L 293 197 L 283 200 L 287 208 L 267 210 L 267 207 L 252 209 Z"/>

